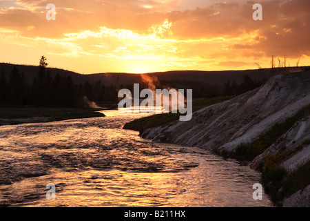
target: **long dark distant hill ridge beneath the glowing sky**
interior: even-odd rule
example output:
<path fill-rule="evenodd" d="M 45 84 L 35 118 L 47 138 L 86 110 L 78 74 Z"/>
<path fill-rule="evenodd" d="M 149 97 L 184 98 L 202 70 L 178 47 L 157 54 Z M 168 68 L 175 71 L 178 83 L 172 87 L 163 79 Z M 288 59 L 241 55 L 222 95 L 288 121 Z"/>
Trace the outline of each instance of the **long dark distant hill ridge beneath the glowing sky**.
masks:
<path fill-rule="evenodd" d="M 0 63 L 0 75 L 4 73 L 5 77 L 8 79 L 12 70 L 16 66 L 19 71 L 23 72 L 25 79 L 28 82 L 32 82 L 34 77 L 37 76 L 39 71 L 39 66 L 27 66 L 27 65 L 17 65 L 17 64 L 6 64 Z M 306 68 L 306 67 L 301 67 Z M 101 80 L 101 83 L 105 86 L 125 86 L 132 85 L 134 83 L 141 83 L 143 79 L 141 75 L 145 74 L 129 74 L 129 73 L 97 73 L 91 75 L 82 75 L 79 73 L 72 72 L 70 70 L 63 70 L 59 68 L 48 68 L 51 77 L 61 75 L 62 77 L 72 77 L 72 81 L 75 84 L 84 83 L 89 81 L 90 83 L 95 83 Z M 288 71 L 295 72 L 300 70 L 300 68 L 287 68 Z M 259 69 L 259 70 L 225 70 L 225 71 L 198 71 L 198 70 L 178 70 L 169 71 L 161 73 L 147 73 L 151 77 L 157 77 L 158 81 L 196 81 L 210 85 L 223 86 L 226 81 L 236 81 L 240 83 L 242 81 L 243 75 L 248 75 L 254 81 L 261 81 L 266 79 L 271 73 L 271 69 Z"/>

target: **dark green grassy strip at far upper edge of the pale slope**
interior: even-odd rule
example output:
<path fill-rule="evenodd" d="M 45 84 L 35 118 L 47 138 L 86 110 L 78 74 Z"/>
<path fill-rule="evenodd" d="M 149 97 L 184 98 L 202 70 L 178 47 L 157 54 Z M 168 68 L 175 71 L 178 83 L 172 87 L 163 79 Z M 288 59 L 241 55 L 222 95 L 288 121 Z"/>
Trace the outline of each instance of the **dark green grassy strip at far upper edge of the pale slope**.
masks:
<path fill-rule="evenodd" d="M 201 108 L 205 108 L 206 106 L 211 106 L 219 102 L 224 102 L 228 99 L 231 99 L 231 97 L 214 97 L 209 99 L 198 99 L 193 102 L 193 113 L 195 111 L 200 110 Z M 141 119 L 136 119 L 132 122 L 125 124 L 124 129 L 139 131 L 140 133 L 143 133 L 143 131 L 147 128 L 170 124 L 178 120 L 179 116 L 180 113 L 176 114 L 163 113 L 158 115 L 152 115 L 149 117 L 143 117 Z"/>

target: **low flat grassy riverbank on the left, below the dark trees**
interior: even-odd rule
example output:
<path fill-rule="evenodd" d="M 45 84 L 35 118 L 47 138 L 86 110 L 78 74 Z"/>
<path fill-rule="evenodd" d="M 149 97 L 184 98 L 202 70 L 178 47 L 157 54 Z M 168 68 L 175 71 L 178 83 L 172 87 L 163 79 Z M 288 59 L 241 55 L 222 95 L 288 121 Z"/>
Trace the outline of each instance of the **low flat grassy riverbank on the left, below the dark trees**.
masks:
<path fill-rule="evenodd" d="M 0 108 L 0 126 L 105 117 L 103 108 Z"/>

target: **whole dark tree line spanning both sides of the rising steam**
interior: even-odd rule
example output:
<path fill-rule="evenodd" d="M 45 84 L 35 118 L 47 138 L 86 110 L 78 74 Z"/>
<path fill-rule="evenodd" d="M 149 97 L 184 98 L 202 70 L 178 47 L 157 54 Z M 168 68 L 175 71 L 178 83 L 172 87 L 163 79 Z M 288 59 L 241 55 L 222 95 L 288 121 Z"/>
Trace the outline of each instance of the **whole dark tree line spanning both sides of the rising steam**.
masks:
<path fill-rule="evenodd" d="M 47 68 L 48 63 L 44 56 L 40 59 L 37 77 L 29 83 L 25 80 L 23 71 L 14 67 L 10 77 L 6 79 L 2 71 L 0 76 L 0 107 L 36 106 L 36 107 L 87 107 L 89 101 L 106 106 L 116 106 L 118 103 L 118 90 L 132 89 L 133 85 L 105 86 L 100 80 L 95 83 L 85 81 L 83 84 L 74 84 L 72 78 L 62 77 L 58 73 L 51 77 Z M 253 90 L 263 84 L 262 81 L 254 82 L 248 75 L 243 76 L 243 81 L 226 81 L 224 86 L 205 84 L 198 81 L 162 81 L 159 88 L 192 89 L 194 98 L 210 98 L 218 96 L 236 96 Z M 141 83 L 141 90 L 147 84 Z"/>

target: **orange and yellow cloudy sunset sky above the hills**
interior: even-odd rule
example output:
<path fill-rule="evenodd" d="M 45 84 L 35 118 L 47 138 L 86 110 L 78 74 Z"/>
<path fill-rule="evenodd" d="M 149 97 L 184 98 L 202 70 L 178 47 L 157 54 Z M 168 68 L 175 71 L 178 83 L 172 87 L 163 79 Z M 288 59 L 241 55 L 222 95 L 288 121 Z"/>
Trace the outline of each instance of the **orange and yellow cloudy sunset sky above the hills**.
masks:
<path fill-rule="evenodd" d="M 38 65 L 45 55 L 84 74 L 269 68 L 272 55 L 307 66 L 310 1 L 0 0 L 0 50 L 0 62 Z"/>

